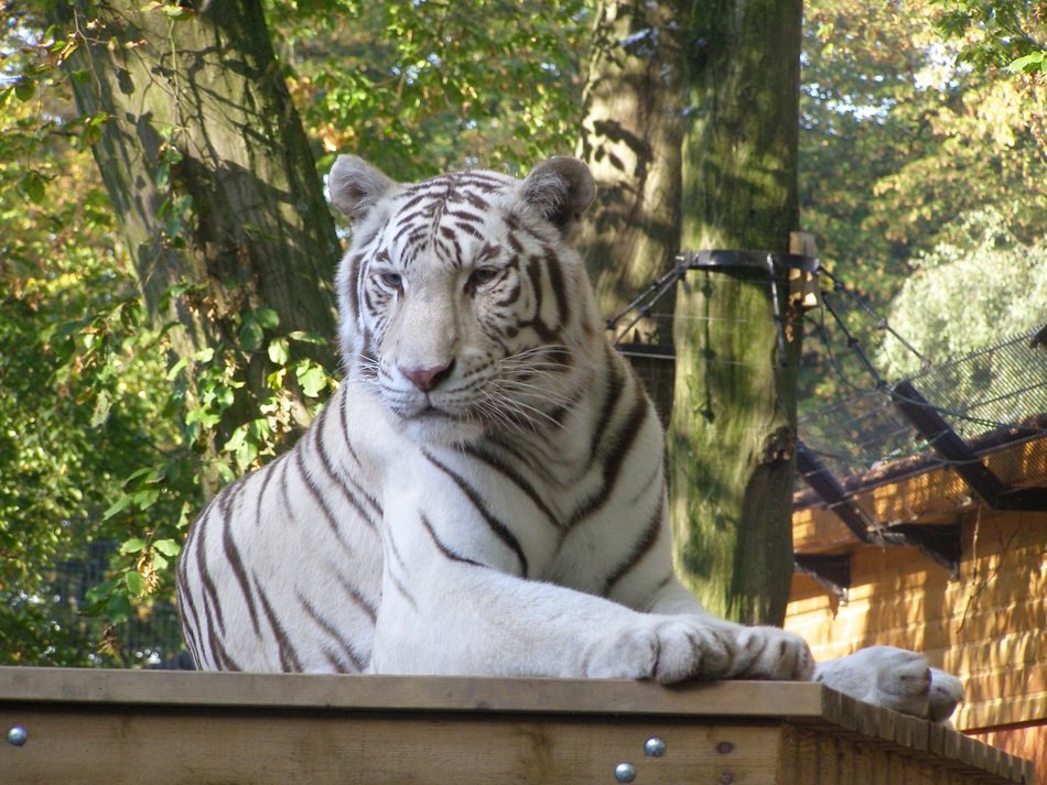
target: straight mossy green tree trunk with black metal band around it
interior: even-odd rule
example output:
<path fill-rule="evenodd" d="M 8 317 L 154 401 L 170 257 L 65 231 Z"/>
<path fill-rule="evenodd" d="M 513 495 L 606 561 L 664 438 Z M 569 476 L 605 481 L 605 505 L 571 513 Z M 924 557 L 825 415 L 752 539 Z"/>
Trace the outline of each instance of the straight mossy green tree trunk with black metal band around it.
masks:
<path fill-rule="evenodd" d="M 703 0 L 693 13 L 681 246 L 785 252 L 798 222 L 801 2 Z M 786 314 L 784 275 L 778 290 Z M 710 610 L 780 624 L 800 330 L 786 329 L 782 358 L 764 270 L 692 271 L 676 308 L 677 563 Z"/>

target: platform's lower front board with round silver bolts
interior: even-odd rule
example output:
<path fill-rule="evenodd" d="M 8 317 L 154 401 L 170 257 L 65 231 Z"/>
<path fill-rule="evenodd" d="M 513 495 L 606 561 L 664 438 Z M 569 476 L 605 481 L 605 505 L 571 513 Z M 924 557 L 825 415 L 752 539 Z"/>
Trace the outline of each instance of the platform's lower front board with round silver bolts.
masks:
<path fill-rule="evenodd" d="M 0 711 L 0 722 L 13 719 Z M 604 720 L 481 720 L 417 713 L 213 709 L 207 716 L 155 707 L 133 712 L 19 712 L 31 728 L 20 749 L 0 751 L 0 779 L 20 785 L 407 785 L 409 783 L 613 783 L 630 763 L 638 783 L 774 781 L 775 726 L 706 727 Z M 652 734 L 660 757 L 644 753 Z M 730 742 L 728 754 L 715 752 Z"/>

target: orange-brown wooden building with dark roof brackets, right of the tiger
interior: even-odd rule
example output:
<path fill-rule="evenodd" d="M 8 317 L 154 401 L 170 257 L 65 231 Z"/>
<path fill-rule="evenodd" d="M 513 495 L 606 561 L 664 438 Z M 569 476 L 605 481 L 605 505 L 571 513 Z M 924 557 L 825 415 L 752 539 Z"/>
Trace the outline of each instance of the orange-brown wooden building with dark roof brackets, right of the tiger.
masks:
<path fill-rule="evenodd" d="M 956 728 L 1033 759 L 1041 785 L 1047 784 L 1044 425 L 1040 417 L 971 440 L 964 445 L 967 459 L 930 450 L 857 477 L 828 478 L 821 493 L 798 491 L 797 573 L 786 621 L 810 641 L 818 659 L 889 644 L 920 652 L 954 673 L 967 690 Z"/>

